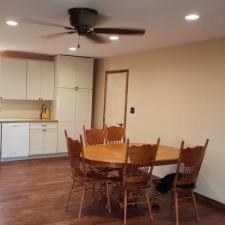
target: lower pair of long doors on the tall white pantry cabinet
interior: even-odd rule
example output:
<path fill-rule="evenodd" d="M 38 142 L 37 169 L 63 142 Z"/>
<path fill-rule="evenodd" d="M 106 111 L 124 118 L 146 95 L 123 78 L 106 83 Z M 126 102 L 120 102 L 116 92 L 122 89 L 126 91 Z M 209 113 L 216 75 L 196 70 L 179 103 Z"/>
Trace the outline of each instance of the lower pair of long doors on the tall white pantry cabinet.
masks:
<path fill-rule="evenodd" d="M 75 91 L 74 89 L 58 88 L 58 119 L 59 119 L 59 152 L 66 152 L 64 130 L 68 135 L 79 139 L 83 134 L 83 125 L 91 127 L 92 90 Z"/>

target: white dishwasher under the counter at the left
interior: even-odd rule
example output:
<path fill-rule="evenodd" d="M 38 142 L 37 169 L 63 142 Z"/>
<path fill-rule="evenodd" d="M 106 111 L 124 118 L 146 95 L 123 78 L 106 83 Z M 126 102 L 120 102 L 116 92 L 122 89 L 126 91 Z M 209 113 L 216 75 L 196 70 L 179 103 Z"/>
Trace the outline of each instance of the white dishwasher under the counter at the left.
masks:
<path fill-rule="evenodd" d="M 27 157 L 29 123 L 2 123 L 2 159 Z"/>

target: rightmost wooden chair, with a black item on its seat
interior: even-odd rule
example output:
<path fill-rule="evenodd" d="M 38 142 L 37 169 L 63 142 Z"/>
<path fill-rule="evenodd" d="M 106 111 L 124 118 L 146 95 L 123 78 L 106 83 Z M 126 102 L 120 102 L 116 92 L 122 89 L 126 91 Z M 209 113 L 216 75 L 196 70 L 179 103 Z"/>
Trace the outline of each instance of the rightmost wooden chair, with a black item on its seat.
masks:
<path fill-rule="evenodd" d="M 182 141 L 181 143 L 176 176 L 173 188 L 171 189 L 172 196 L 174 196 L 175 201 L 176 225 L 179 225 L 178 201 L 180 200 L 192 199 L 197 220 L 200 219 L 194 189 L 196 188 L 196 181 L 202 165 L 206 148 L 208 146 L 208 142 L 209 139 L 206 140 L 204 146 L 196 146 L 193 148 L 184 148 L 184 141 Z M 190 194 L 190 196 L 178 198 L 179 195 L 183 194 Z"/>

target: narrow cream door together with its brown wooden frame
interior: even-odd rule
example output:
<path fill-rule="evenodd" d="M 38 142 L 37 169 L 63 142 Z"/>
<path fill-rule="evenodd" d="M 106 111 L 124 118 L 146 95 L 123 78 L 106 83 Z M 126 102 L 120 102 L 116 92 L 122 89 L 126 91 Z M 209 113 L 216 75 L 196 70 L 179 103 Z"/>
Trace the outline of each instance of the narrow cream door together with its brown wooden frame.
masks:
<path fill-rule="evenodd" d="M 103 123 L 126 127 L 128 70 L 108 71 L 105 79 Z"/>

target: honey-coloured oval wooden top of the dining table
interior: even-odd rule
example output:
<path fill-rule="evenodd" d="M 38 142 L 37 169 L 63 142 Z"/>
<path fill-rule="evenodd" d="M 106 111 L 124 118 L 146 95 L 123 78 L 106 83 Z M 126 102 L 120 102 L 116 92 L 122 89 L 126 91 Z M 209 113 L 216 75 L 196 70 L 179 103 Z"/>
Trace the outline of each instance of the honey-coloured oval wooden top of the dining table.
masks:
<path fill-rule="evenodd" d="M 125 152 L 126 144 L 99 144 L 84 147 L 85 159 L 94 164 L 122 165 L 125 161 Z M 178 157 L 179 149 L 160 145 L 156 155 L 156 165 L 176 164 Z"/>

